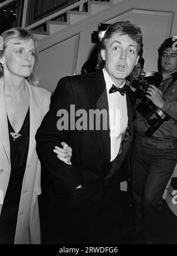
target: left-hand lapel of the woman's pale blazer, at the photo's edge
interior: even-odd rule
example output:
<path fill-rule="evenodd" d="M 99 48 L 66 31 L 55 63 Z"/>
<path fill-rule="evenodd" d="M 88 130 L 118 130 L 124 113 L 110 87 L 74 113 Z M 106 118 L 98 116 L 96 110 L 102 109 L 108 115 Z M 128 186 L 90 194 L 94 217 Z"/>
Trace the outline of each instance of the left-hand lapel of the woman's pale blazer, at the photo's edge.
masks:
<path fill-rule="evenodd" d="M 10 142 L 9 142 L 9 134 L 8 134 L 8 119 L 6 114 L 6 105 L 5 105 L 5 97 L 4 97 L 4 79 L 0 79 L 0 140 L 2 141 L 2 145 L 4 147 L 6 157 L 9 162 L 9 166 L 11 167 L 11 158 L 10 158 Z M 11 168 L 9 168 L 11 170 Z"/>

